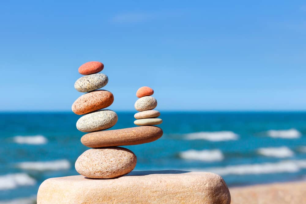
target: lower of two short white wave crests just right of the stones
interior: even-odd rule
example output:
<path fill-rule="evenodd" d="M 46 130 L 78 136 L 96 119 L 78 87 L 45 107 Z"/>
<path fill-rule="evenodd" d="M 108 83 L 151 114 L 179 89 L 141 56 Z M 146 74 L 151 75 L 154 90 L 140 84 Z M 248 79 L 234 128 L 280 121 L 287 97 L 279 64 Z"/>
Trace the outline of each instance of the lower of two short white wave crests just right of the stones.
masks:
<path fill-rule="evenodd" d="M 183 159 L 199 161 L 221 161 L 224 158 L 220 150 L 187 150 L 181 152 L 179 156 Z"/>

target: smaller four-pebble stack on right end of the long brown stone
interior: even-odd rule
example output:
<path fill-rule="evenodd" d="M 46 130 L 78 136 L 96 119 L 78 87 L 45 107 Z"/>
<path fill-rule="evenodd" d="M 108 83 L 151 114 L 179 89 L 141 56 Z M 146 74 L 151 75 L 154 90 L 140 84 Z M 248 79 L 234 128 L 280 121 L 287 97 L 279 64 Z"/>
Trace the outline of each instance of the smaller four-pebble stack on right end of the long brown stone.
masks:
<path fill-rule="evenodd" d="M 153 110 L 157 106 L 157 101 L 151 95 L 154 94 L 153 89 L 150 87 L 140 87 L 136 96 L 139 98 L 135 102 L 135 109 L 140 111 L 136 113 L 134 117 L 137 119 L 134 121 L 135 125 L 158 125 L 162 123 L 162 119 L 159 117 L 160 113 L 157 110 Z"/>

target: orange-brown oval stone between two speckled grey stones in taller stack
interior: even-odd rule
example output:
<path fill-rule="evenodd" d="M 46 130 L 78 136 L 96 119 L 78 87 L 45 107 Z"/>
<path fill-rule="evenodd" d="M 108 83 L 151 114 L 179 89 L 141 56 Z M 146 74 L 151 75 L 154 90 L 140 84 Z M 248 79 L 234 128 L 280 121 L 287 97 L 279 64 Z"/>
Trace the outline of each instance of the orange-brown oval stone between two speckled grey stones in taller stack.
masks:
<path fill-rule="evenodd" d="M 72 104 L 72 111 L 75 114 L 83 115 L 99 109 L 106 108 L 114 102 L 114 95 L 106 90 L 92 91 L 81 95 Z"/>

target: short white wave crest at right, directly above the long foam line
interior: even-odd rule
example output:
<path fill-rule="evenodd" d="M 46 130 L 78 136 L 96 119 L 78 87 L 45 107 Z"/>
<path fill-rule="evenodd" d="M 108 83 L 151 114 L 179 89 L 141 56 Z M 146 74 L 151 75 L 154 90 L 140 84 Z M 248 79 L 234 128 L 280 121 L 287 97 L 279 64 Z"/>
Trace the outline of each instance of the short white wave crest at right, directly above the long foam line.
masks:
<path fill-rule="evenodd" d="M 288 147 L 259 148 L 257 150 L 257 153 L 267 157 L 278 157 L 278 158 L 292 157 L 294 155 L 294 152 L 290 150 Z"/>

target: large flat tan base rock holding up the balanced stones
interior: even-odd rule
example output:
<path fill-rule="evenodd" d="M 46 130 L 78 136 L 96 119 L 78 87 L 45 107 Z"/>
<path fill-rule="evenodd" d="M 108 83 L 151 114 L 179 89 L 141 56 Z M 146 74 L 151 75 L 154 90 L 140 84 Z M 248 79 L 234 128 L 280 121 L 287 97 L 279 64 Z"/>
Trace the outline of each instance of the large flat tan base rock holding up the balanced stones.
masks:
<path fill-rule="evenodd" d="M 106 180 L 50 178 L 40 185 L 37 203 L 230 204 L 230 191 L 222 177 L 214 173 L 136 171 Z"/>

